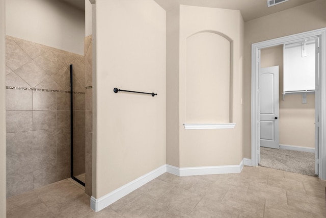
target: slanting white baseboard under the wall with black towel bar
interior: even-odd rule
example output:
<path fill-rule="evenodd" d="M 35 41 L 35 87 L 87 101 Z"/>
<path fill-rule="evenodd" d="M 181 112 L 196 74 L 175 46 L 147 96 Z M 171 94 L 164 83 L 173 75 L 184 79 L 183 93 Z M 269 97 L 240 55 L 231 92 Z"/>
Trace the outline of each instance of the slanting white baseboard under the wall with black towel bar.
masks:
<path fill-rule="evenodd" d="M 128 193 L 134 191 L 135 189 L 145 185 L 149 181 L 155 179 L 156 177 L 164 174 L 167 172 L 167 165 L 164 164 L 153 171 L 135 179 L 120 188 L 108 193 L 107 195 L 100 197 L 98 199 L 91 197 L 91 209 L 95 212 L 102 210 L 103 208 L 107 207 L 108 205 L 118 201 L 122 197 L 128 195 Z"/>

